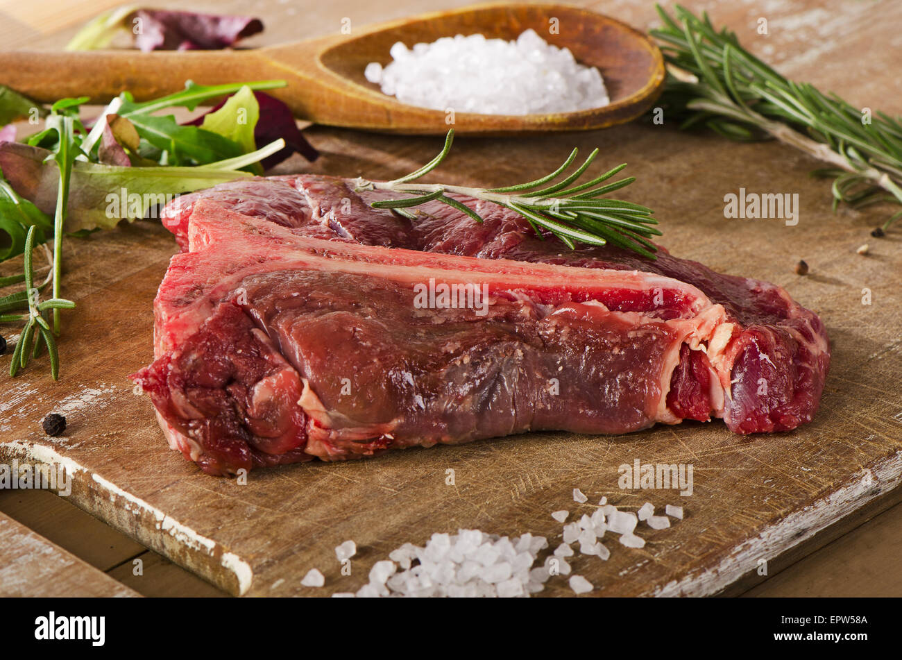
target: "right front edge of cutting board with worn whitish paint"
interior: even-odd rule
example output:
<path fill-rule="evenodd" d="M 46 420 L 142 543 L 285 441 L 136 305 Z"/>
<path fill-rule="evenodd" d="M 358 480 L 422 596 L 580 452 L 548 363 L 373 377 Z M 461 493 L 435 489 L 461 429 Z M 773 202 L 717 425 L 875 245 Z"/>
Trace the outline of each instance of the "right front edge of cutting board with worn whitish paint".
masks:
<path fill-rule="evenodd" d="M 649 595 L 667 597 L 723 594 L 743 577 L 754 573 L 760 560 L 778 562 L 780 556 L 814 539 L 871 502 L 893 493 L 900 486 L 902 452 L 897 452 L 861 468 L 831 493 L 766 527 L 758 536 L 735 545 L 718 564 L 690 570 L 682 579 L 658 586 Z M 812 552 L 815 549 L 811 546 Z"/>

